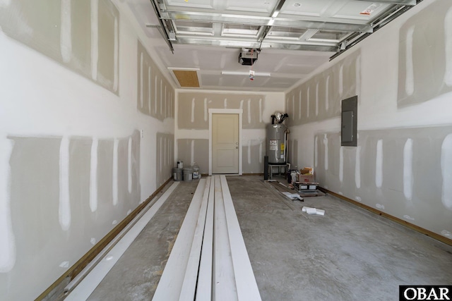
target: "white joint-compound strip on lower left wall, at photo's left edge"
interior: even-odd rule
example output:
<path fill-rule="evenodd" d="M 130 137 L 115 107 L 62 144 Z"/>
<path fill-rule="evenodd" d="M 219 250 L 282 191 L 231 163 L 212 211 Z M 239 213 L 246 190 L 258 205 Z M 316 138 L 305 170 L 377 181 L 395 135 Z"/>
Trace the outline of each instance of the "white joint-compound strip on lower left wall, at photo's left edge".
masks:
<path fill-rule="evenodd" d="M 0 137 L 0 273 L 16 264 L 16 240 L 11 221 L 11 165 L 13 141 Z"/>

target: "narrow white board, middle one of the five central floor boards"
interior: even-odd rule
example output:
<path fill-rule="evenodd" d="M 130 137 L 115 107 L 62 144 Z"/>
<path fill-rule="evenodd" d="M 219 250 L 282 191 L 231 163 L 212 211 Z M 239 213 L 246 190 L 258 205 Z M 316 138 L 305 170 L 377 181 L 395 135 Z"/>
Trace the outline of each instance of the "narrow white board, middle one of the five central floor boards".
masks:
<path fill-rule="evenodd" d="M 215 178 L 210 178 L 206 225 L 204 226 L 201 262 L 199 263 L 196 301 L 212 300 L 212 267 L 213 267 L 213 207 L 215 197 Z"/>

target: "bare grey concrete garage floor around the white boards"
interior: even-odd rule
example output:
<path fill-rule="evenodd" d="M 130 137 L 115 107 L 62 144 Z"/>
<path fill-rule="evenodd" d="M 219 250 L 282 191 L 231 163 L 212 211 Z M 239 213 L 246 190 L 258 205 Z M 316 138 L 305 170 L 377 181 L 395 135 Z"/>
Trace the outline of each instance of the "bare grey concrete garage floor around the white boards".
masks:
<path fill-rule="evenodd" d="M 452 284 L 451 246 L 329 195 L 290 201 L 258 176 L 227 183 L 262 300 L 398 300 L 398 285 Z M 152 299 L 197 184 L 179 183 L 88 300 Z"/>

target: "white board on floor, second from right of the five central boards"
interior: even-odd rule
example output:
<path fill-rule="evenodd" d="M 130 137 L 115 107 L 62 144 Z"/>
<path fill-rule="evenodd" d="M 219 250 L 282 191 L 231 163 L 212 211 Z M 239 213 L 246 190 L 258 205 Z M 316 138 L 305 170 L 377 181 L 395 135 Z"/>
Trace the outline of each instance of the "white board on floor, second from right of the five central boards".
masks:
<path fill-rule="evenodd" d="M 238 300 L 220 176 L 215 176 L 213 300 Z"/>

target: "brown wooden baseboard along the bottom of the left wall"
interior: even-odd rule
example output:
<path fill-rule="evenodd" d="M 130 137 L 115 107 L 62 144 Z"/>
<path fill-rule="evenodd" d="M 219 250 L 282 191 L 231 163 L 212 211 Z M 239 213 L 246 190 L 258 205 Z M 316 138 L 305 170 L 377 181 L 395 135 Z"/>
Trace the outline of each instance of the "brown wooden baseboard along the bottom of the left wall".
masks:
<path fill-rule="evenodd" d="M 143 210 L 150 203 L 150 201 L 154 197 L 156 197 L 160 191 L 162 191 L 163 188 L 165 188 L 165 185 L 167 185 L 171 180 L 172 178 L 169 178 L 163 185 L 160 186 L 160 188 L 155 190 L 155 192 L 150 195 L 148 199 L 139 204 L 135 210 L 133 210 L 128 216 L 126 216 L 125 219 L 118 223 L 117 226 L 112 229 L 112 231 L 105 235 L 102 240 L 97 242 L 97 244 L 95 244 L 94 247 L 92 247 L 85 255 L 83 255 L 81 259 L 78 259 L 78 262 L 73 264 L 73 266 L 71 266 L 68 271 L 66 271 L 66 273 L 61 275 L 54 283 L 52 283 L 52 285 L 49 286 L 49 288 L 47 288 L 47 290 L 44 290 L 44 292 L 42 292 L 42 294 L 35 300 L 44 300 L 47 295 L 59 295 L 59 293 L 56 293 L 54 290 L 56 288 L 60 288 L 61 283 L 71 281 L 81 271 L 83 271 L 83 269 L 85 269 L 85 266 L 87 266 L 97 256 L 97 254 L 99 254 L 109 244 L 109 242 L 111 242 L 116 237 L 116 235 L 118 235 L 127 226 L 127 224 L 129 224 L 135 218 L 135 216 L 137 216 L 141 212 L 141 210 Z"/>

